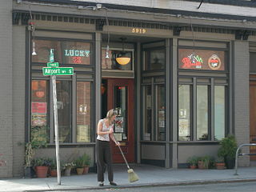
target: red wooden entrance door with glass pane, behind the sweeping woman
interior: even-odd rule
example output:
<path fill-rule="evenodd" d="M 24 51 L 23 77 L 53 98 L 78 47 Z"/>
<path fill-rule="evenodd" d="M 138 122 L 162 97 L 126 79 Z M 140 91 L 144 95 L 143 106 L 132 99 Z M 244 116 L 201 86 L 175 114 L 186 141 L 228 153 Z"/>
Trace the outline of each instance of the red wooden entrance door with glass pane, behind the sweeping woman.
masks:
<path fill-rule="evenodd" d="M 102 118 L 108 110 L 115 109 L 114 136 L 128 162 L 134 162 L 134 79 L 102 79 Z M 113 162 L 123 163 L 122 154 L 111 142 Z"/>

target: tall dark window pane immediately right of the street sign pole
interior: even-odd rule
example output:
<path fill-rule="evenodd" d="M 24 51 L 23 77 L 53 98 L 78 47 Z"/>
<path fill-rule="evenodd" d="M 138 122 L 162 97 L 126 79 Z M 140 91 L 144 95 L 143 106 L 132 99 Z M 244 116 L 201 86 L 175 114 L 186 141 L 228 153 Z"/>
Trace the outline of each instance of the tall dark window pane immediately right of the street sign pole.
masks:
<path fill-rule="evenodd" d="M 56 81 L 59 142 L 71 142 L 70 86 L 69 81 Z"/>

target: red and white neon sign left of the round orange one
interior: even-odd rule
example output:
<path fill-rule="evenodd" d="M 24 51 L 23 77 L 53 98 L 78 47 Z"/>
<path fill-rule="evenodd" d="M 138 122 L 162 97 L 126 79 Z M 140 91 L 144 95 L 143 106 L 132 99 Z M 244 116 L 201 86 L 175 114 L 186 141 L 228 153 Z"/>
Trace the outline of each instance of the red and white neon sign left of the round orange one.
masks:
<path fill-rule="evenodd" d="M 186 58 L 182 58 L 182 63 L 182 69 L 191 69 L 194 67 L 196 69 L 201 69 L 203 61 L 199 55 L 190 54 Z"/>

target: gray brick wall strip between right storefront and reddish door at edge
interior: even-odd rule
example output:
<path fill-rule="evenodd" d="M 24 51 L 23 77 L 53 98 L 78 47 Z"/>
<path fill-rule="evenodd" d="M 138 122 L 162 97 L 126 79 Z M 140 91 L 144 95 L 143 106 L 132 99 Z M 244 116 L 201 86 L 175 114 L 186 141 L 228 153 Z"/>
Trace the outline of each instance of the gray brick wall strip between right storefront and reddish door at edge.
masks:
<path fill-rule="evenodd" d="M 249 42 L 234 42 L 234 134 L 238 145 L 250 143 L 250 108 L 249 108 Z M 249 153 L 244 148 L 243 153 Z M 240 166 L 249 166 L 250 158 L 239 158 Z"/>

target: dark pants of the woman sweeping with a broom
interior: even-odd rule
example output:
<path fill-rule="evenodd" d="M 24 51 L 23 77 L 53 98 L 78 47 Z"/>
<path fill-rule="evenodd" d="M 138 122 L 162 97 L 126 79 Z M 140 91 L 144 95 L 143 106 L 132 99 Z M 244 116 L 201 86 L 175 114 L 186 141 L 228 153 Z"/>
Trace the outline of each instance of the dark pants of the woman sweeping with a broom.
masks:
<path fill-rule="evenodd" d="M 96 140 L 98 182 L 104 182 L 104 172 L 107 167 L 109 182 L 113 182 L 112 154 L 110 142 Z"/>

